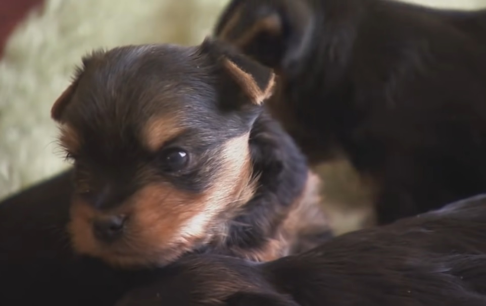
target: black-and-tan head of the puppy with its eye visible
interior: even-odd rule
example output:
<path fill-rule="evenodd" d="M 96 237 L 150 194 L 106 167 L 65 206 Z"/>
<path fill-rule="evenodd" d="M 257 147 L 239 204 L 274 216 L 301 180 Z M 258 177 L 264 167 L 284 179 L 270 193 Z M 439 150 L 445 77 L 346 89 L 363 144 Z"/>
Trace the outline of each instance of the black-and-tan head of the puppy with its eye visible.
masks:
<path fill-rule="evenodd" d="M 84 58 L 52 108 L 75 168 L 74 249 L 160 266 L 224 235 L 255 189 L 248 138 L 273 78 L 210 39 Z"/>

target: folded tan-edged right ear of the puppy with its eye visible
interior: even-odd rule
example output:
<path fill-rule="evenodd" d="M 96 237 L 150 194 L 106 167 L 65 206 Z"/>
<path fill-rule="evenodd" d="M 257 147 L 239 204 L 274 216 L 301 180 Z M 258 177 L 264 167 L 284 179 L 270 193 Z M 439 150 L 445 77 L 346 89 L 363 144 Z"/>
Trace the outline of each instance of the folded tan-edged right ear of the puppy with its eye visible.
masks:
<path fill-rule="evenodd" d="M 221 65 L 225 75 L 239 86 L 253 105 L 262 105 L 272 95 L 275 85 L 272 69 L 211 38 L 205 39 L 202 51 Z"/>

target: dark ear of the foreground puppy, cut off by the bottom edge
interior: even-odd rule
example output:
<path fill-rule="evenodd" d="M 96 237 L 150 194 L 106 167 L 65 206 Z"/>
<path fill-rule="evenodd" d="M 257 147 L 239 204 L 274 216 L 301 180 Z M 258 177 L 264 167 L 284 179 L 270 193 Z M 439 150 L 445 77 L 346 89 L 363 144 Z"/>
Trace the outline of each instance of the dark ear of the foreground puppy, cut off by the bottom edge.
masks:
<path fill-rule="evenodd" d="M 299 306 L 290 297 L 270 293 L 238 292 L 228 297 L 226 306 Z"/>

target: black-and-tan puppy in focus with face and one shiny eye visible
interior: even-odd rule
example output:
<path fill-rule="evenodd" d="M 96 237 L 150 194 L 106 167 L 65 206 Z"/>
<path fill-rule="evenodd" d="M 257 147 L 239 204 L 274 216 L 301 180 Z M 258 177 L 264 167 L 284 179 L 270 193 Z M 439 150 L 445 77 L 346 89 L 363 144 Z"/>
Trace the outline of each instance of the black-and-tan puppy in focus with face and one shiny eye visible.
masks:
<path fill-rule="evenodd" d="M 74 162 L 74 250 L 130 269 L 187 252 L 268 261 L 326 239 L 317 177 L 263 112 L 273 86 L 211 39 L 85 57 L 52 108 Z"/>

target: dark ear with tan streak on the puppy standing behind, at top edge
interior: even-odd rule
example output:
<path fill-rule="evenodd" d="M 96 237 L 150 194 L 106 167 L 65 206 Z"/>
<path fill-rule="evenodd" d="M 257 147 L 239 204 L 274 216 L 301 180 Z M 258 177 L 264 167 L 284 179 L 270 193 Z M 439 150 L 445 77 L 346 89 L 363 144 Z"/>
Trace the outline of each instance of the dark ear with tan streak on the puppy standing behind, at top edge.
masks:
<path fill-rule="evenodd" d="M 273 68 L 291 70 L 307 52 L 314 15 L 306 1 L 233 0 L 214 35 Z"/>

